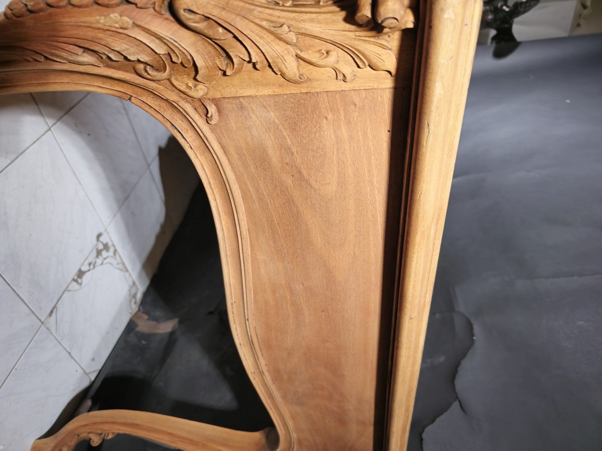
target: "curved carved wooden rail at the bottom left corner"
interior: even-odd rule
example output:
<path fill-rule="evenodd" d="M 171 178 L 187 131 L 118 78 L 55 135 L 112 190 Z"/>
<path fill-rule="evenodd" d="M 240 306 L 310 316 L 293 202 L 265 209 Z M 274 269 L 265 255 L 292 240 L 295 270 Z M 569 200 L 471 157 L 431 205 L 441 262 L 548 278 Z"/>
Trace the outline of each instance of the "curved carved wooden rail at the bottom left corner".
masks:
<path fill-rule="evenodd" d="M 71 451 L 82 440 L 98 446 L 117 434 L 134 435 L 183 451 L 264 451 L 268 449 L 270 429 L 232 431 L 155 413 L 101 410 L 75 417 L 51 437 L 36 440 L 31 451 Z"/>

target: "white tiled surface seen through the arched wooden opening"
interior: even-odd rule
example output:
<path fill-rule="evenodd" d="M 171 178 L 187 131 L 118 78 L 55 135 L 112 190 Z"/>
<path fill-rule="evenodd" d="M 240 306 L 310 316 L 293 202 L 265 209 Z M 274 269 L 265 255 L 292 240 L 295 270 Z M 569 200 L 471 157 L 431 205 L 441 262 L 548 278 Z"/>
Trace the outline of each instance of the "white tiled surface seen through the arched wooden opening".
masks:
<path fill-rule="evenodd" d="M 114 97 L 0 96 L 0 449 L 46 432 L 137 308 L 199 182 L 168 138 Z"/>

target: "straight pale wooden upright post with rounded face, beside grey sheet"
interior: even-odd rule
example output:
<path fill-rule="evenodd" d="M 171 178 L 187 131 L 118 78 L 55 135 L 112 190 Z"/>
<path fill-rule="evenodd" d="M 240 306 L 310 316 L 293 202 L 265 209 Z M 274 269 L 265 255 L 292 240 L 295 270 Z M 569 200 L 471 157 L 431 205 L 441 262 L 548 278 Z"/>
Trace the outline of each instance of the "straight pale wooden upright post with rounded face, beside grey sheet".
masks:
<path fill-rule="evenodd" d="M 482 0 L 422 0 L 386 449 L 406 449 Z"/>

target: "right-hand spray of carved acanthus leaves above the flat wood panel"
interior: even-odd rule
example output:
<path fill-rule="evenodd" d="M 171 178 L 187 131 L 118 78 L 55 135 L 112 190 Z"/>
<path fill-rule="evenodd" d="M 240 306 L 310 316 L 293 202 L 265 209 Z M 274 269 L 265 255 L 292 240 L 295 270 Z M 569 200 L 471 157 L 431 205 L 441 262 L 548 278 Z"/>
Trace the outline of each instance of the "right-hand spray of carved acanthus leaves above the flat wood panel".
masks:
<path fill-rule="evenodd" d="M 347 17 L 353 2 L 273 5 L 253 0 L 173 0 L 176 16 L 216 47 L 217 66 L 233 75 L 244 64 L 270 67 L 287 81 L 302 83 L 300 61 L 330 67 L 337 78 L 351 81 L 354 67 L 393 73 L 396 58 L 386 32 L 361 28 Z M 350 58 L 343 58 L 347 55 Z M 214 74 L 201 74 L 200 79 Z"/>

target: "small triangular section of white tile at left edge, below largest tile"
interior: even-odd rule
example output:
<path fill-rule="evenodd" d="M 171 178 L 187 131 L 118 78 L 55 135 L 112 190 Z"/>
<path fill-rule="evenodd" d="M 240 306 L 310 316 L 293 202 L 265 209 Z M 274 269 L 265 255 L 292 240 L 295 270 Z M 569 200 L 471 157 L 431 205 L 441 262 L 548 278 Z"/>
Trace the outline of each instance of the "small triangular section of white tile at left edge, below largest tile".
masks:
<path fill-rule="evenodd" d="M 40 327 L 19 296 L 0 277 L 0 384 Z"/>

